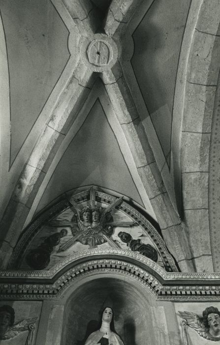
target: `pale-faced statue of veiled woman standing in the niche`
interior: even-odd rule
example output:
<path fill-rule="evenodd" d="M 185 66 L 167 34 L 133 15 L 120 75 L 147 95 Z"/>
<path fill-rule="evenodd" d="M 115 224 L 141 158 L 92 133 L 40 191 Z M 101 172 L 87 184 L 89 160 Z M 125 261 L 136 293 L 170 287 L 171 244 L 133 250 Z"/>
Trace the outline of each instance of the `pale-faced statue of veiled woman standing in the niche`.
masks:
<path fill-rule="evenodd" d="M 98 329 L 87 338 L 85 345 L 124 345 L 115 330 L 112 308 L 101 311 Z"/>

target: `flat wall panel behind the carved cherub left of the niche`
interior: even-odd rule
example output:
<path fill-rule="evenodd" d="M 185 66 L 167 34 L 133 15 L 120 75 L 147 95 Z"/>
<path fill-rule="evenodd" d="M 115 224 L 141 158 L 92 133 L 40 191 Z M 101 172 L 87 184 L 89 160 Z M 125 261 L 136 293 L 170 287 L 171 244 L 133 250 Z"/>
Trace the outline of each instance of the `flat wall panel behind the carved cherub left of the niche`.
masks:
<path fill-rule="evenodd" d="M 9 305 L 15 311 L 15 321 L 14 324 L 21 320 L 37 317 L 35 322 L 35 328 L 33 331 L 32 344 L 35 344 L 36 335 L 38 331 L 40 313 L 42 302 L 32 302 L 32 301 L 1 301 L 0 306 Z M 28 331 L 21 331 L 19 334 L 9 340 L 0 340 L 0 345 L 25 345 L 28 337 Z M 43 345 L 43 344 L 42 344 Z"/>

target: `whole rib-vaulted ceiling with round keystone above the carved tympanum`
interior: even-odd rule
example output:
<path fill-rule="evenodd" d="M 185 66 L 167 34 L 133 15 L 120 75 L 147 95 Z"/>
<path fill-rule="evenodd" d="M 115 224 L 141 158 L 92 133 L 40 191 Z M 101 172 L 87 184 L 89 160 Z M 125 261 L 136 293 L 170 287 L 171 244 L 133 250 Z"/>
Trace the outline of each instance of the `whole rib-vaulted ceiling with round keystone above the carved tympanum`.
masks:
<path fill-rule="evenodd" d="M 157 221 L 183 272 L 220 271 L 220 1 L 0 0 L 1 268 L 95 185 Z"/>

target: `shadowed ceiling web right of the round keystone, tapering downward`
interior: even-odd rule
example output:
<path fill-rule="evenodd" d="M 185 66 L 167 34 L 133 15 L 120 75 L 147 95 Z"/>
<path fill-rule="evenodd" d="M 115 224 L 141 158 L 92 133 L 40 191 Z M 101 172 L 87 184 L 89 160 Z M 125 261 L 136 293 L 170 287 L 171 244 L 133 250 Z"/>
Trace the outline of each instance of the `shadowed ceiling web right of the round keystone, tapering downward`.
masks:
<path fill-rule="evenodd" d="M 176 73 L 189 5 L 190 0 L 153 1 L 133 33 L 131 64 L 168 165 Z"/>

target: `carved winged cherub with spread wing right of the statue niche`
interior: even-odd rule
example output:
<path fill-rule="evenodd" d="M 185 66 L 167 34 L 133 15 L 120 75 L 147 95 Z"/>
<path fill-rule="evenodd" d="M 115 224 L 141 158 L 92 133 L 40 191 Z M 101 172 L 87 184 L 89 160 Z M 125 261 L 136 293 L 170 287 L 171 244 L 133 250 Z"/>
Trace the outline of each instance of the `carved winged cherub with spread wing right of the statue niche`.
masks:
<path fill-rule="evenodd" d="M 179 313 L 187 321 L 187 325 L 197 331 L 201 337 L 220 341 L 220 311 L 218 308 L 208 307 L 202 312 L 202 316 L 190 311 L 179 311 Z M 182 325 L 184 325 L 183 321 Z"/>

